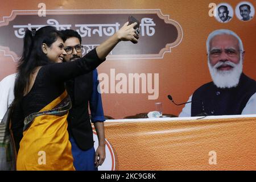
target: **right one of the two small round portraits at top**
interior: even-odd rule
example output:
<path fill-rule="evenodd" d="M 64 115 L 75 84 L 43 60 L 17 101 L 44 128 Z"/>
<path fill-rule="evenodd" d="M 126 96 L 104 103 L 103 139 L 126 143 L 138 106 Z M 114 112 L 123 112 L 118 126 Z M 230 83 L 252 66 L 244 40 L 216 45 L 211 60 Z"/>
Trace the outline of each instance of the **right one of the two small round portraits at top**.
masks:
<path fill-rule="evenodd" d="M 250 2 L 240 2 L 236 7 L 236 16 L 239 20 L 247 22 L 253 19 L 255 14 L 254 6 Z"/>

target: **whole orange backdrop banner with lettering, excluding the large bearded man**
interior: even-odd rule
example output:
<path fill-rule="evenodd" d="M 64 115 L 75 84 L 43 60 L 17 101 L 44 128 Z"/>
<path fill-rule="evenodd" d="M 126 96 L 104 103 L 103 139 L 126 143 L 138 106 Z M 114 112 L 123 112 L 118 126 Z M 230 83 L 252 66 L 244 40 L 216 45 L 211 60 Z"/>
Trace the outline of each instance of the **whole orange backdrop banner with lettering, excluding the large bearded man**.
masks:
<path fill-rule="evenodd" d="M 246 4 L 246 5 L 245 5 Z M 29 1 L 13 0 L 0 9 L 0 80 L 16 72 L 26 28 L 72 28 L 82 36 L 83 53 L 108 39 L 133 15 L 141 22 L 138 44 L 121 42 L 98 68 L 104 113 L 115 119 L 155 110 L 179 115 L 182 103 L 212 81 L 206 40 L 229 29 L 240 36 L 242 71 L 256 78 L 255 1 Z"/>

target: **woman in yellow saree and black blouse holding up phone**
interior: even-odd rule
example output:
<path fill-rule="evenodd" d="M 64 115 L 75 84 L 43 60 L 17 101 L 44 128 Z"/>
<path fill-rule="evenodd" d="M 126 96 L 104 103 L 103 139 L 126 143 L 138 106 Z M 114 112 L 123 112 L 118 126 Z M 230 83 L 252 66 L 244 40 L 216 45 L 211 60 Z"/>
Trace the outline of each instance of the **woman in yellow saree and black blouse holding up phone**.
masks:
<path fill-rule="evenodd" d="M 95 69 L 121 40 L 137 42 L 137 23 L 127 24 L 86 56 L 68 63 L 62 63 L 65 38 L 55 27 L 26 31 L 12 117 L 14 138 L 22 138 L 16 144 L 17 170 L 75 169 L 67 131 L 71 102 L 64 82 Z"/>

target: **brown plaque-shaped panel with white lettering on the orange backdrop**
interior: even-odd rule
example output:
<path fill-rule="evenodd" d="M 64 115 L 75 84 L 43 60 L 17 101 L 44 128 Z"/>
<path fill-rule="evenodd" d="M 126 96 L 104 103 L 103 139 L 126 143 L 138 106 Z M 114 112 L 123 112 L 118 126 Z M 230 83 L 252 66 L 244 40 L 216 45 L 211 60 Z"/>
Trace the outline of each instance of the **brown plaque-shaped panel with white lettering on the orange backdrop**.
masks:
<path fill-rule="evenodd" d="M 14 60 L 19 59 L 26 29 L 55 26 L 57 30 L 76 30 L 82 38 L 83 55 L 104 42 L 127 22 L 133 14 L 140 21 L 141 38 L 138 44 L 121 44 L 113 49 L 108 59 L 163 58 L 165 52 L 181 42 L 183 36 L 179 23 L 162 15 L 160 10 L 55 10 L 46 11 L 46 17 L 38 11 L 16 11 L 0 23 L 0 49 Z M 12 41 L 9 41 L 12 40 Z M 154 43 L 154 44 L 153 44 Z M 143 51 L 138 47 L 145 47 Z"/>

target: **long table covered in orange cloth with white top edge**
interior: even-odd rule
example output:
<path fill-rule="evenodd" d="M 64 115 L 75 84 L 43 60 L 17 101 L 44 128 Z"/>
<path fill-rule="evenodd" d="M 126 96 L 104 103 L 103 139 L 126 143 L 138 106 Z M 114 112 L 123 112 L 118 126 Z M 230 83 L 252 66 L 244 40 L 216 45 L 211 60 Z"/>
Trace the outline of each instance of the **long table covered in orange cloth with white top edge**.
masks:
<path fill-rule="evenodd" d="M 256 115 L 105 122 L 112 170 L 255 170 Z M 109 162 L 108 162 L 109 161 Z M 107 169 L 102 166 L 102 169 Z M 99 168 L 100 169 L 100 168 Z"/>

